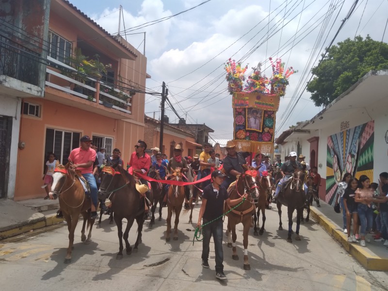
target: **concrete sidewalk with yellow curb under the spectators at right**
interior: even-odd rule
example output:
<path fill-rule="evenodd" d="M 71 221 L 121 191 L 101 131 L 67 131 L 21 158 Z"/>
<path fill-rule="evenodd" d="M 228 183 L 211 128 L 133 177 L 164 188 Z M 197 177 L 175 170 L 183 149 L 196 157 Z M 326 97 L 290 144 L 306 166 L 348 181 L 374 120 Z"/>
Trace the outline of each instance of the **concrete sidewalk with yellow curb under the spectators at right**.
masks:
<path fill-rule="evenodd" d="M 315 205 L 315 202 L 313 203 Z M 310 207 L 310 215 L 337 240 L 362 266 L 372 271 L 388 271 L 388 249 L 383 242 L 367 242 L 366 247 L 359 243 L 349 243 L 342 229 L 342 213 L 336 213 L 333 207 L 321 201 L 321 208 Z"/>

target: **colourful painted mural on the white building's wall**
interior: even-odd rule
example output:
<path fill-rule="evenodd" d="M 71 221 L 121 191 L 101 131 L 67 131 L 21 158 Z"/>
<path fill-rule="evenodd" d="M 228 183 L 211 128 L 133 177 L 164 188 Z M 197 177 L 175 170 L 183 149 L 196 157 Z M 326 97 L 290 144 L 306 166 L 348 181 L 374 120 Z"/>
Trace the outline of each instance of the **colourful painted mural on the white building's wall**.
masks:
<path fill-rule="evenodd" d="M 334 205 L 339 182 L 345 173 L 373 180 L 374 121 L 327 138 L 326 202 Z"/>

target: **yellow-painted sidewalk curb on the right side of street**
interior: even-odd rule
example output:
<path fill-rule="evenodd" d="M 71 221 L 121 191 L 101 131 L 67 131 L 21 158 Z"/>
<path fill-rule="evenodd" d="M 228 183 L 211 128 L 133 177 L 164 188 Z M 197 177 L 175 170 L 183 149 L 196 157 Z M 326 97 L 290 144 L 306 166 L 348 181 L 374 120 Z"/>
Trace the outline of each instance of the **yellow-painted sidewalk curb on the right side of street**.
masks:
<path fill-rule="evenodd" d="M 315 207 L 310 207 L 311 216 L 338 241 L 365 269 L 370 271 L 388 271 L 388 259 L 370 255 L 365 248 L 348 243 L 347 236 Z"/>

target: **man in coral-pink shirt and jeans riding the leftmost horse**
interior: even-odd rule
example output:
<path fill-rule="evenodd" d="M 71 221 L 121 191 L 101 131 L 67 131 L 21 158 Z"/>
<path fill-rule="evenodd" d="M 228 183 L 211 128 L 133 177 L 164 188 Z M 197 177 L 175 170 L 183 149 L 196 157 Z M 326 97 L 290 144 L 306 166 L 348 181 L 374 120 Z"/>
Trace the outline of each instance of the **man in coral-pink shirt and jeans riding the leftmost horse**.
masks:
<path fill-rule="evenodd" d="M 80 139 L 81 146 L 73 149 L 70 153 L 68 160 L 73 163 L 71 166 L 73 169 L 77 169 L 81 172 L 83 178 L 88 181 L 90 187 L 90 195 L 92 197 L 92 213 L 91 218 L 97 218 L 97 184 L 96 179 L 93 176 L 93 163 L 96 160 L 96 151 L 90 148 L 92 140 L 89 136 L 84 135 Z"/>

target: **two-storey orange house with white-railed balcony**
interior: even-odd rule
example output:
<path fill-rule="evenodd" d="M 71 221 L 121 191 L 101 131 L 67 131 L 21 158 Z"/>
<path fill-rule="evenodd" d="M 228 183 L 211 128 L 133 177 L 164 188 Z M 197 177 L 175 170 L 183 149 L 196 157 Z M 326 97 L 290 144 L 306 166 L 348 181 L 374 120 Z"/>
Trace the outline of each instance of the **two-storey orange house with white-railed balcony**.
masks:
<path fill-rule="evenodd" d="M 19 105 L 25 146 L 17 150 L 15 200 L 43 197 L 47 154 L 65 164 L 82 135 L 104 146 L 107 157 L 120 149 L 126 162 L 144 136 L 146 57 L 66 0 L 51 0 L 46 19 L 44 97 L 23 97 Z M 74 56 L 96 69 L 82 71 Z"/>

